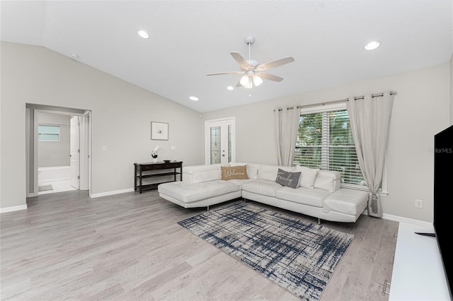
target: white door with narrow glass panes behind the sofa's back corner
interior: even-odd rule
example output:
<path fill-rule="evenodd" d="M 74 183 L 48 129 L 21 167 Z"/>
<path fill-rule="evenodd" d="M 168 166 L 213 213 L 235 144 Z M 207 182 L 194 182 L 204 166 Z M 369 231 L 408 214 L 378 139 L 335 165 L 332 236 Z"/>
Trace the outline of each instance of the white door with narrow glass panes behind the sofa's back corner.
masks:
<path fill-rule="evenodd" d="M 205 123 L 205 163 L 226 164 L 236 161 L 234 117 Z"/>

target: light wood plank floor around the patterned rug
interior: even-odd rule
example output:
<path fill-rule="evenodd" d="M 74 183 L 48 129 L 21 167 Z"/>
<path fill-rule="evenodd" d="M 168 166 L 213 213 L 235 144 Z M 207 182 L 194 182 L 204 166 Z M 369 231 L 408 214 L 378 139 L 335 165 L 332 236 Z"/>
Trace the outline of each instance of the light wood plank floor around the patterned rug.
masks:
<path fill-rule="evenodd" d="M 299 300 L 178 225 L 206 208 L 181 208 L 155 190 L 96 199 L 68 191 L 27 204 L 0 216 L 1 300 Z M 321 223 L 355 235 L 321 300 L 388 300 L 398 223 Z"/>

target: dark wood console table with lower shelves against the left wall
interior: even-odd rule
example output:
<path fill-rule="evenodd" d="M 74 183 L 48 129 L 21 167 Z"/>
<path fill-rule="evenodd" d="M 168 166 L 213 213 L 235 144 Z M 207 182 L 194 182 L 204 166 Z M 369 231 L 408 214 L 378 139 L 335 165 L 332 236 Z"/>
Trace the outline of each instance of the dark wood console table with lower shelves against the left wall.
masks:
<path fill-rule="evenodd" d="M 177 171 L 179 169 L 179 171 Z M 176 176 L 179 175 L 180 181 L 183 180 L 183 162 L 157 162 L 157 163 L 134 163 L 134 191 L 147 189 L 156 189 L 159 184 L 166 182 L 175 182 Z M 144 182 L 144 179 L 156 179 L 157 177 L 166 177 L 166 180 L 154 182 Z"/>

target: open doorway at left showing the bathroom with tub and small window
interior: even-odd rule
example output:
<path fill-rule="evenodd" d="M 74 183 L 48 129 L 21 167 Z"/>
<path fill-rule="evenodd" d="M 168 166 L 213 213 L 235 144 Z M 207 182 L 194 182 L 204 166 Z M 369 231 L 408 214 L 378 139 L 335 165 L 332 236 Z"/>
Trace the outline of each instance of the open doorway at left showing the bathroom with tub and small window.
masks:
<path fill-rule="evenodd" d="M 27 196 L 91 192 L 91 111 L 26 105 Z"/>

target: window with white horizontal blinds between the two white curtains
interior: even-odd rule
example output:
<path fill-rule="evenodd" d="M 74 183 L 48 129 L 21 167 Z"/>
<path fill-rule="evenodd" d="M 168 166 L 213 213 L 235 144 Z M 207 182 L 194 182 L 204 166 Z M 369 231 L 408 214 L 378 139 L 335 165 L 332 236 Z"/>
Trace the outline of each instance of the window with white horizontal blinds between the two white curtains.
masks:
<path fill-rule="evenodd" d="M 345 109 L 301 113 L 293 165 L 336 170 L 342 187 L 367 188 Z"/>

